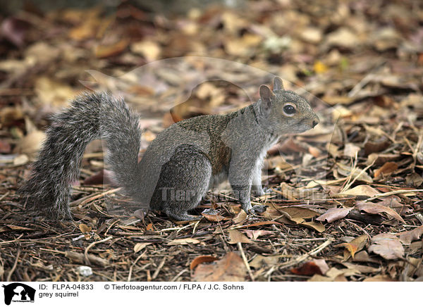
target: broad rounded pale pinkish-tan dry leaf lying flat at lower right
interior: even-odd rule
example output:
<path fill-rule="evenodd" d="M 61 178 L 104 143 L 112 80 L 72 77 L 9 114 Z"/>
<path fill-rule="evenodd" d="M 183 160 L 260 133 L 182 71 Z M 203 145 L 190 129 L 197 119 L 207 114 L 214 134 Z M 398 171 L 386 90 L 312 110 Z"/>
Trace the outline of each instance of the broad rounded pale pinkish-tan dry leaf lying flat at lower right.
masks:
<path fill-rule="evenodd" d="M 400 239 L 388 233 L 376 234 L 372 237 L 372 246 L 369 247 L 369 251 L 388 260 L 402 259 L 404 256 L 404 247 Z"/>

